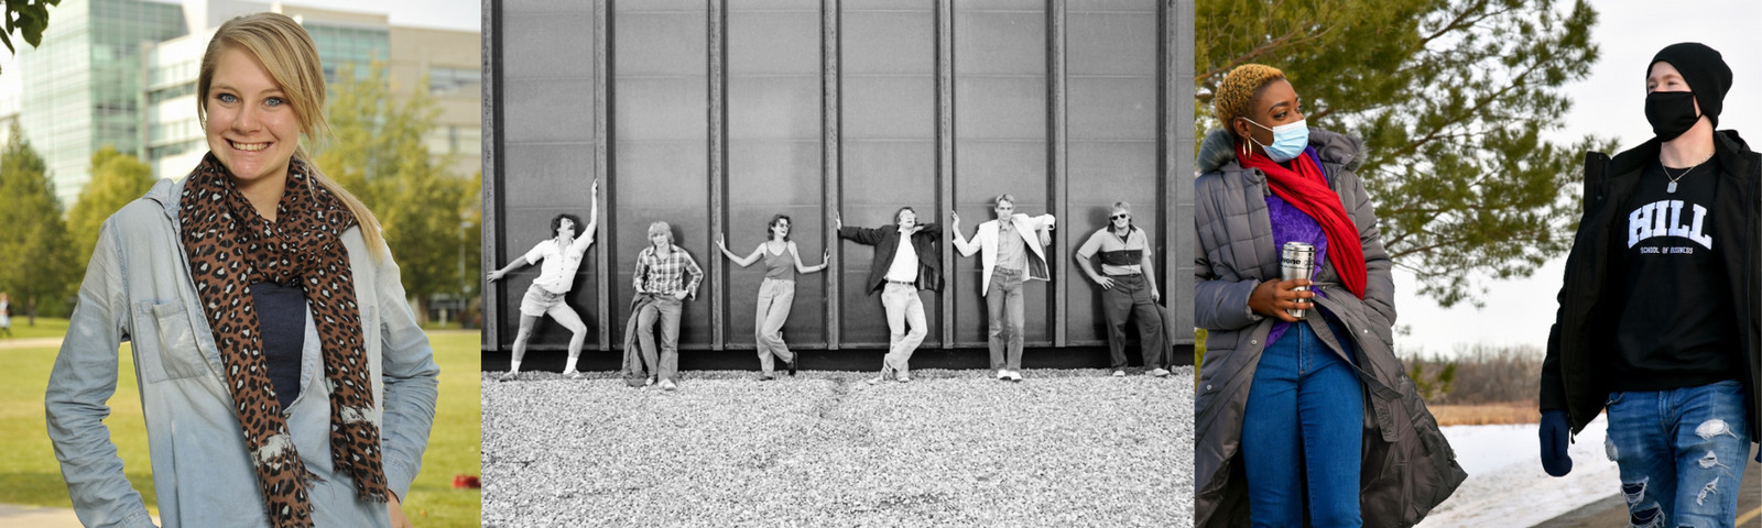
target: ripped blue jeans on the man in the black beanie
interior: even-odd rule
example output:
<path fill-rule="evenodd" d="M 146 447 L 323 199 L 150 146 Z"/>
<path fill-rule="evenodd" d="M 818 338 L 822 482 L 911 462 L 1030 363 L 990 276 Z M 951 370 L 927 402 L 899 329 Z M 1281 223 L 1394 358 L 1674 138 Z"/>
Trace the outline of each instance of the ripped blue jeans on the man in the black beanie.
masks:
<path fill-rule="evenodd" d="M 1732 526 L 1750 461 L 1744 387 L 1609 392 L 1609 459 L 1633 526 Z"/>

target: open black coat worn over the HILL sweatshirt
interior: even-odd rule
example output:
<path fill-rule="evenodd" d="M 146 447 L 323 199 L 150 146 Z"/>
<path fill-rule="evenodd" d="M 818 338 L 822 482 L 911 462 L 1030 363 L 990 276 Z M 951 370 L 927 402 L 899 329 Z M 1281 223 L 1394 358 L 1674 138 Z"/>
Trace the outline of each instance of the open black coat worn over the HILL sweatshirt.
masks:
<path fill-rule="evenodd" d="M 1595 151 L 1584 157 L 1584 216 L 1566 253 L 1540 392 L 1542 410 L 1566 410 L 1573 435 L 1609 401 L 1603 366 L 1616 347 L 1609 324 L 1621 317 L 1625 303 L 1619 292 L 1626 290 L 1616 268 L 1626 241 L 1621 232 L 1628 225 L 1621 208 L 1639 187 L 1646 164 L 1658 158 L 1658 150 L 1660 143 L 1653 139 L 1614 158 Z M 1748 375 L 1737 378 L 1750 401 L 1750 438 L 1757 440 L 1762 438 L 1762 283 L 1757 278 L 1757 266 L 1762 266 L 1762 155 L 1751 151 L 1736 130 L 1713 134 L 1713 153 L 1720 158 L 1713 232 L 1743 232 L 1721 238 L 1729 245 L 1720 250 L 1720 264 L 1737 310 L 1737 354 L 1748 368 Z"/>

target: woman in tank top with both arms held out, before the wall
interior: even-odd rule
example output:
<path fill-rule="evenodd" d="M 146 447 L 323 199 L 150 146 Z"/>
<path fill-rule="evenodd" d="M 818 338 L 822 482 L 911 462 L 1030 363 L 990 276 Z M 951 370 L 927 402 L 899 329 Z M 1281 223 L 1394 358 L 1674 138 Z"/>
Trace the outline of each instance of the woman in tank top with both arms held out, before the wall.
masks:
<path fill-rule="evenodd" d="M 761 382 L 775 378 L 772 356 L 782 359 L 789 366 L 789 375 L 795 375 L 795 354 L 782 341 L 782 324 L 789 320 L 789 303 L 795 301 L 795 275 L 826 269 L 826 257 L 832 257 L 832 252 L 821 252 L 819 266 L 802 264 L 802 253 L 795 248 L 795 241 L 789 241 L 789 215 L 772 216 L 772 222 L 765 224 L 765 234 L 768 239 L 752 248 L 745 259 L 729 252 L 728 241 L 721 234 L 715 236 L 715 248 L 740 268 L 765 259 L 765 282 L 759 283 L 758 313 L 752 317 L 754 340 L 759 345 Z"/>

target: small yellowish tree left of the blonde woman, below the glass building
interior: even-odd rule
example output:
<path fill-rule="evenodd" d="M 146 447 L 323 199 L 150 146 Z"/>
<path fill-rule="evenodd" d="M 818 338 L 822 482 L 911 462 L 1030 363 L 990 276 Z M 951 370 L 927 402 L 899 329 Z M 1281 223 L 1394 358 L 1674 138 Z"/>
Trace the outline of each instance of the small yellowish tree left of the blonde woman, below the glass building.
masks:
<path fill-rule="evenodd" d="M 99 227 L 122 206 L 153 187 L 153 167 L 134 155 L 104 146 L 92 153 L 92 181 L 79 190 L 79 201 L 67 211 L 67 231 L 74 245 L 74 266 L 86 268 L 92 246 L 99 241 Z"/>

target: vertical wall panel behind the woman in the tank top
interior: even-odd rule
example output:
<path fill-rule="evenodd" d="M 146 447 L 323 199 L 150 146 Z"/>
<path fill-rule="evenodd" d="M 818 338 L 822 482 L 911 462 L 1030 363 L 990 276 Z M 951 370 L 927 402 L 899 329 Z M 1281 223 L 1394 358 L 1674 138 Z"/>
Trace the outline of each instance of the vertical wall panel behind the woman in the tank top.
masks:
<path fill-rule="evenodd" d="M 821 220 L 821 12 L 816 0 L 735 2 L 728 7 L 728 250 L 740 257 L 766 239 L 772 215 L 789 215 L 789 239 L 814 266 L 830 229 Z M 714 253 L 722 259 L 721 252 Z M 763 257 L 729 266 L 728 347 L 754 348 Z M 784 340 L 826 347 L 825 275 L 796 275 Z"/>

